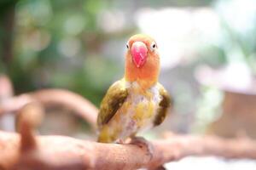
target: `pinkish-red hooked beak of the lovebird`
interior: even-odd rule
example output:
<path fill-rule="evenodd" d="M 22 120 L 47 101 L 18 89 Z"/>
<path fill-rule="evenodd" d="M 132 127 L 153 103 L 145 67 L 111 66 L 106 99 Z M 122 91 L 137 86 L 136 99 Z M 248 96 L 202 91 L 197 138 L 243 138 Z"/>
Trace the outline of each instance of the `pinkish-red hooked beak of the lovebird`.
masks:
<path fill-rule="evenodd" d="M 131 55 L 133 63 L 137 68 L 142 67 L 148 57 L 148 48 L 143 42 L 133 42 L 131 46 Z"/>

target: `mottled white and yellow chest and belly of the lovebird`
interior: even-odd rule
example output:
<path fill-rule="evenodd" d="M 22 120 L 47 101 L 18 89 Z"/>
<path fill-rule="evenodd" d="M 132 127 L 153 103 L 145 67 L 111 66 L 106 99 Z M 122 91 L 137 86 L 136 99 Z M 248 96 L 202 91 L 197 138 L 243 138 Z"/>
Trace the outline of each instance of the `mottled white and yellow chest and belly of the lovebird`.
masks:
<path fill-rule="evenodd" d="M 157 85 L 143 92 L 137 82 L 127 83 L 127 86 L 129 96 L 120 108 L 120 126 L 123 127 L 120 138 L 152 127 L 161 99 Z"/>

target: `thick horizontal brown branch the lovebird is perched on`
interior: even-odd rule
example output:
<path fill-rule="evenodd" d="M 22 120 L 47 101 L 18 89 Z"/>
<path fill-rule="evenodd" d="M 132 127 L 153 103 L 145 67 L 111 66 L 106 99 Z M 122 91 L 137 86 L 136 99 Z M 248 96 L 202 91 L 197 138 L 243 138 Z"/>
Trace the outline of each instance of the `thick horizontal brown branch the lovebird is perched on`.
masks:
<path fill-rule="evenodd" d="M 22 157 L 21 161 L 14 162 L 14 158 L 17 160 L 19 157 L 20 138 L 15 133 L 0 132 L 0 167 L 7 168 L 18 162 L 20 166 L 34 168 L 41 163 L 52 169 L 67 165 L 98 170 L 135 169 L 158 167 L 185 156 L 256 159 L 256 142 L 248 139 L 174 136 L 171 139 L 155 140 L 152 142 L 152 160 L 149 160 L 146 150 L 132 144 L 101 144 L 62 136 L 41 136 L 37 141 L 38 150 L 29 156 L 32 165 L 27 162 L 29 160 L 24 160 L 27 156 Z M 31 169 L 34 169 L 32 167 Z"/>

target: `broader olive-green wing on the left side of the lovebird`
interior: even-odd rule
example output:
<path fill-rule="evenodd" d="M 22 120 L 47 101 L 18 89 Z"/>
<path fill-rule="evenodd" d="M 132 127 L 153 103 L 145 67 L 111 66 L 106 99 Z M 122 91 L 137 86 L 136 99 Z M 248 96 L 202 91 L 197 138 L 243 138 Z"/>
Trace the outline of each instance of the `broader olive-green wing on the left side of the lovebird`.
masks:
<path fill-rule="evenodd" d="M 102 125 L 107 124 L 111 120 L 116 111 L 123 105 L 127 96 L 128 91 L 125 88 L 125 82 L 123 80 L 114 82 L 113 85 L 108 88 L 107 94 L 102 99 L 100 112 L 97 117 L 98 127 L 102 127 Z"/>

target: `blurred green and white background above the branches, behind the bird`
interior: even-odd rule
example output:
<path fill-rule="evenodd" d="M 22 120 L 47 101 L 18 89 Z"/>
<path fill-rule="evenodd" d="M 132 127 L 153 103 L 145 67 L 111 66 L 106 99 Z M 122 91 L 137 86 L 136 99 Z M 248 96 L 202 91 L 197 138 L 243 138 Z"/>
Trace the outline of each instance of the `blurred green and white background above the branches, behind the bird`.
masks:
<path fill-rule="evenodd" d="M 159 43 L 160 82 L 175 99 L 163 128 L 204 133 L 225 91 L 255 92 L 253 0 L 2 0 L 0 23 L 0 72 L 16 94 L 67 88 L 99 106 L 136 33 Z"/>

